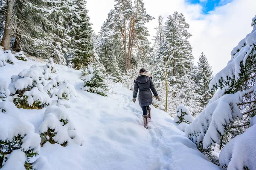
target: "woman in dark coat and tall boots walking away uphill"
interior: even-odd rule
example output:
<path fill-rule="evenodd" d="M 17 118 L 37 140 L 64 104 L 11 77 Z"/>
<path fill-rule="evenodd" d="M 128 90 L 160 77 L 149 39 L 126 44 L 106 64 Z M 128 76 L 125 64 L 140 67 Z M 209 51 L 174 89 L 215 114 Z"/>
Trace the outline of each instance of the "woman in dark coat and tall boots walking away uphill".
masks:
<path fill-rule="evenodd" d="M 156 100 L 160 101 L 158 97 L 157 90 L 154 88 L 154 84 L 152 81 L 151 75 L 146 73 L 145 69 L 140 69 L 140 74 L 134 78 L 134 93 L 132 101 L 135 103 L 137 98 L 138 90 L 139 92 L 139 104 L 143 110 L 143 122 L 144 127 L 148 129 L 148 122 L 151 120 L 151 108 L 149 105 L 153 102 L 152 92 L 156 98 Z"/>

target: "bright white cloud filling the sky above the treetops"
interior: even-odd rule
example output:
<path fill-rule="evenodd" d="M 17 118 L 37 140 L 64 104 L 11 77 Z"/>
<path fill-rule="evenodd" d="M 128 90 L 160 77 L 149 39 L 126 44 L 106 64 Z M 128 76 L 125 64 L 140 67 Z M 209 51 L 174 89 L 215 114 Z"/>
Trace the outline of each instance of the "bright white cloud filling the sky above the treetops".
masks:
<path fill-rule="evenodd" d="M 203 51 L 214 73 L 226 66 L 232 49 L 252 30 L 250 23 L 256 14 L 256 0 L 221 0 L 224 1 L 229 3 L 203 14 L 202 6 L 189 4 L 187 0 L 144 0 L 148 14 L 155 18 L 162 15 L 167 19 L 175 11 L 185 15 L 193 35 L 190 42 L 195 63 Z M 88 0 L 87 9 L 95 32 L 99 32 L 113 4 L 114 0 Z M 147 24 L 150 38 L 156 25 L 156 19 Z"/>

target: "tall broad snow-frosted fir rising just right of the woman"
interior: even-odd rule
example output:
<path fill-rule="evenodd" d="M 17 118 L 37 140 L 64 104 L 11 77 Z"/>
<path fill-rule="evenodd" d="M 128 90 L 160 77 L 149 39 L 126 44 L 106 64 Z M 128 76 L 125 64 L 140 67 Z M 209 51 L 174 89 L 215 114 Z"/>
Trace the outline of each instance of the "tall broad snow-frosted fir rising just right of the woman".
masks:
<path fill-rule="evenodd" d="M 179 99 L 176 100 L 175 97 L 177 93 L 183 95 L 186 94 L 183 92 L 188 91 L 188 82 L 184 82 L 185 78 L 183 76 L 190 77 L 188 74 L 193 68 L 193 56 L 192 47 L 188 41 L 188 38 L 191 37 L 191 34 L 188 33 L 189 25 L 186 23 L 183 14 L 175 12 L 172 16 L 170 15 L 164 28 L 162 27 L 163 19 L 159 17 L 156 28 L 157 36 L 153 48 L 155 66 L 153 75 L 157 78 L 156 86 L 162 92 L 161 98 L 165 102 L 165 111 L 167 112 L 169 103 L 173 103 L 170 102 L 171 100 L 180 102 L 171 109 L 180 104 L 185 104 Z M 157 44 L 159 45 L 157 46 Z M 189 86 L 189 88 L 191 89 L 190 95 L 196 95 L 193 92 L 193 87 Z M 195 99 L 195 96 L 190 98 Z"/>

